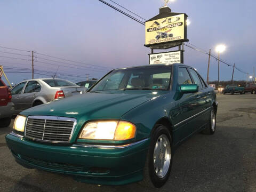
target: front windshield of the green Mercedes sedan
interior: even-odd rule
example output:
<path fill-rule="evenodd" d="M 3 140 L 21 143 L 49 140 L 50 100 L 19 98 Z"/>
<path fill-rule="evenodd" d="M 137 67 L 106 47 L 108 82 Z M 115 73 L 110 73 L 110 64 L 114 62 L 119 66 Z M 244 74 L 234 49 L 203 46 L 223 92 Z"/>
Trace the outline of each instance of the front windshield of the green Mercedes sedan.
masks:
<path fill-rule="evenodd" d="M 169 90 L 171 66 L 116 69 L 101 79 L 90 92 L 104 90 Z"/>

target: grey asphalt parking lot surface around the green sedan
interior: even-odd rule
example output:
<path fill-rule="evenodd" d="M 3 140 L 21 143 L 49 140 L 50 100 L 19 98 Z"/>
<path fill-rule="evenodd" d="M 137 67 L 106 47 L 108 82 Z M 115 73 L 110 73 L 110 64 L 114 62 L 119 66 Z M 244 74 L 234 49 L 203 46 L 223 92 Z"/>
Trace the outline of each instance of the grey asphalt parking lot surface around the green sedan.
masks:
<path fill-rule="evenodd" d="M 256 94 L 218 95 L 217 130 L 197 134 L 176 151 L 169 181 L 160 189 L 133 183 L 98 186 L 66 175 L 25 169 L 0 129 L 0 191 L 256 191 Z M 13 121 L 12 121 L 13 123 Z"/>

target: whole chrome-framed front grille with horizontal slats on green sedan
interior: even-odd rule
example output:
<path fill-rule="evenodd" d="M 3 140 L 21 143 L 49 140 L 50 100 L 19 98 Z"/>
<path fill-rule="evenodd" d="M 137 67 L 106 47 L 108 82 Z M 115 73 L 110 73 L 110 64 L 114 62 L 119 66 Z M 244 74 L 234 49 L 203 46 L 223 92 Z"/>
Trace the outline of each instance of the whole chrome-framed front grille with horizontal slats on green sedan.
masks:
<path fill-rule="evenodd" d="M 25 137 L 44 142 L 68 143 L 75 125 L 75 118 L 28 116 Z"/>

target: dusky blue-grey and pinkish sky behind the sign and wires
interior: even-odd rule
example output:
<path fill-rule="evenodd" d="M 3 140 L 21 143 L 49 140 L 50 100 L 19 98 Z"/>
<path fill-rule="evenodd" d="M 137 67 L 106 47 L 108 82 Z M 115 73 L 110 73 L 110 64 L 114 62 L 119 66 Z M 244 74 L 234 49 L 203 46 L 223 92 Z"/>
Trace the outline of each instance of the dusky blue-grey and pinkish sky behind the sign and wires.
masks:
<path fill-rule="evenodd" d="M 111 3 L 109 0 L 106 1 Z M 158 8 L 164 5 L 163 0 L 114 1 L 145 19 L 157 15 Z M 211 48 L 214 54 L 217 54 L 214 51 L 216 45 L 225 44 L 227 49 L 221 53 L 221 59 L 236 63 L 238 68 L 250 74 L 253 66 L 256 67 L 254 58 L 256 26 L 253 19 L 255 6 L 255 0 L 176 0 L 169 3 L 172 12 L 187 13 L 189 16 L 191 21 L 187 32 L 189 43 L 206 51 Z M 143 46 L 145 26 L 98 0 L 2 0 L 0 1 L 0 23 L 0 46 L 36 51 L 91 65 L 74 63 L 87 68 L 79 66 L 68 68 L 63 67 L 65 63 L 58 64 L 54 61 L 35 58 L 37 61 L 47 62 L 35 62 L 38 73 L 44 70 L 52 75 L 59 65 L 59 73 L 61 73 L 59 77 L 65 77 L 76 83 L 86 79 L 86 74 L 89 74 L 87 75 L 89 77 L 99 78 L 110 68 L 148 65 L 150 49 Z M 0 56 L 27 59 L 0 57 L 0 65 L 4 65 L 5 71 L 15 71 L 10 67 L 31 68 L 31 61 L 28 61 L 31 57 L 3 53 L 31 55 L 30 52 L 1 47 L 0 51 L 2 51 Z M 36 55 L 45 59 L 58 60 Z M 195 67 L 205 79 L 207 61 L 206 54 L 185 46 L 184 63 Z M 62 62 L 71 63 L 64 60 Z M 220 80 L 231 79 L 231 73 L 231 67 L 220 64 Z M 27 73 L 7 73 L 7 76 L 14 84 L 31 78 L 31 74 Z M 36 74 L 35 77 L 47 76 Z M 234 78 L 246 79 L 246 75 L 235 70 Z M 210 81 L 215 79 L 218 79 L 218 62 L 211 59 Z"/>

